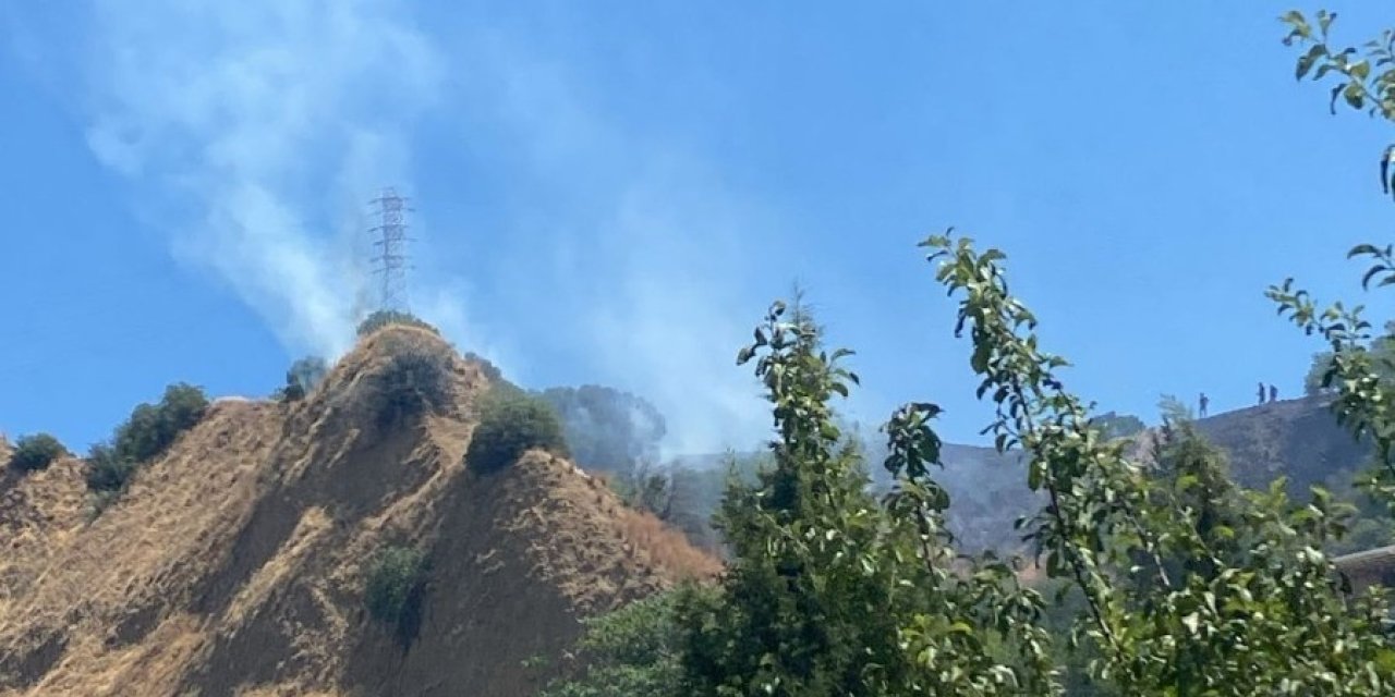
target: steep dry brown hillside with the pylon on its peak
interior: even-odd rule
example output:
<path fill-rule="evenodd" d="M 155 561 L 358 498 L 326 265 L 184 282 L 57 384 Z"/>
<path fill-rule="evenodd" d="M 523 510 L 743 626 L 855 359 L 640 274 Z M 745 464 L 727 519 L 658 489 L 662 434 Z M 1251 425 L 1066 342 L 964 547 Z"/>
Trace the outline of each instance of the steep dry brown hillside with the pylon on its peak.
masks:
<path fill-rule="evenodd" d="M 449 400 L 395 418 L 393 367 Z M 463 464 L 480 367 L 435 335 L 365 339 L 308 399 L 215 401 L 95 520 L 81 463 L 0 482 L 0 696 L 523 696 L 578 619 L 717 566 L 534 452 Z M 388 544 L 425 551 L 406 645 L 364 611 Z"/>

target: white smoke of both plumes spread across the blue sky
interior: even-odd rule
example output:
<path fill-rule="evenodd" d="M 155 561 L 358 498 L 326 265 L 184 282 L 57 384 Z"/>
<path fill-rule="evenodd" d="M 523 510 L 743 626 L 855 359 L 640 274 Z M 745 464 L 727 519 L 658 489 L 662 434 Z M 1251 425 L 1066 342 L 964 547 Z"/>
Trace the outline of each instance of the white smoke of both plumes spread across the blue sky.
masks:
<path fill-rule="evenodd" d="M 412 191 L 410 135 L 439 110 L 472 128 L 439 145 L 508 134 L 509 164 L 537 178 L 530 194 L 547 205 L 490 231 L 488 277 L 414 286 L 418 315 L 525 383 L 520 346 L 538 335 L 566 344 L 552 353 L 578 364 L 579 382 L 664 413 L 668 452 L 746 447 L 767 431 L 734 357 L 763 293 L 785 287 L 742 261 L 746 238 L 776 226 L 700 156 L 605 118 L 566 61 L 520 50 L 527 42 L 487 21 L 434 42 L 398 0 L 93 8 L 82 70 L 92 152 L 160 210 L 152 223 L 176 255 L 222 279 L 289 350 L 350 346 L 372 298 L 367 201 L 382 185 Z M 748 279 L 767 276 L 753 294 Z M 490 308 L 506 333 L 467 311 L 469 289 L 490 283 L 509 305 Z"/>

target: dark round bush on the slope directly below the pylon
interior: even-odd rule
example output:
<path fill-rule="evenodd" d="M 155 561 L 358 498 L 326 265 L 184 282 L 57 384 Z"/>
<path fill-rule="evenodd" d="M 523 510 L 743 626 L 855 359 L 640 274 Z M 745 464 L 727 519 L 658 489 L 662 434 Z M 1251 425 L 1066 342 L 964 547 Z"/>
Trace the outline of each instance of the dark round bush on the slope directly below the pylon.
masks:
<path fill-rule="evenodd" d="M 449 357 L 421 346 L 393 351 L 368 383 L 378 428 L 392 428 L 451 403 Z"/>

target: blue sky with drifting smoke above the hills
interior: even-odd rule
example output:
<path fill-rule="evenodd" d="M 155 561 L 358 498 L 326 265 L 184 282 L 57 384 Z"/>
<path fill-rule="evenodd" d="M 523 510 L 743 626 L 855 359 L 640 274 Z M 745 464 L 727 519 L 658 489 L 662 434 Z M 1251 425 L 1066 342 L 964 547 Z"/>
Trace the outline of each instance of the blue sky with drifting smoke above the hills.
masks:
<path fill-rule="evenodd" d="M 915 248 L 951 224 L 1009 254 L 1070 386 L 1148 418 L 1296 395 L 1320 346 L 1264 289 L 1356 297 L 1345 251 L 1388 240 L 1387 125 L 1293 81 L 1289 6 L 792 7 L 6 4 L 0 432 L 84 449 L 169 382 L 259 396 L 345 350 L 382 185 L 414 311 L 527 386 L 649 397 L 671 452 L 764 435 L 734 355 L 795 280 L 858 351 L 855 417 L 929 399 L 982 442 Z M 1392 24 L 1328 7 L 1353 43 Z"/>

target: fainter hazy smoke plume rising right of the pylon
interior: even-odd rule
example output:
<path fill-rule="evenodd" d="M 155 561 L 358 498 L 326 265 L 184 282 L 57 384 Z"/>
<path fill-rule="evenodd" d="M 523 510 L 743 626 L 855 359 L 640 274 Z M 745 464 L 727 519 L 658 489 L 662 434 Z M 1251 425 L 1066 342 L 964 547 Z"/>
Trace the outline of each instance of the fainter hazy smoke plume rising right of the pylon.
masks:
<path fill-rule="evenodd" d="M 759 442 L 769 410 L 735 357 L 773 300 L 763 293 L 788 286 L 760 258 L 780 237 L 776 216 L 699 152 L 608 118 L 566 61 L 502 32 L 478 46 L 451 71 L 466 75 L 452 92 L 491 105 L 502 138 L 558 201 L 533 212 L 512 251 L 491 250 L 502 276 L 529 277 L 515 289 L 520 309 L 547 308 L 593 371 L 587 382 L 664 414 L 665 457 Z"/>

